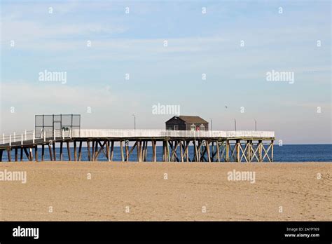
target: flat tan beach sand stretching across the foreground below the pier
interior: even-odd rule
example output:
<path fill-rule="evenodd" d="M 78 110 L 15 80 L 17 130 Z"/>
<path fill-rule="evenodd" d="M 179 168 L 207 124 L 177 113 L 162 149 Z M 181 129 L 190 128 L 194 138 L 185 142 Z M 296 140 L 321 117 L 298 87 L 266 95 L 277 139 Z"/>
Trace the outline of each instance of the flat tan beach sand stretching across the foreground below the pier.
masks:
<path fill-rule="evenodd" d="M 5 169 L 27 171 L 27 183 L 0 182 L 0 220 L 332 220 L 332 163 L 1 163 Z M 229 181 L 233 170 L 255 172 L 255 182 Z"/>

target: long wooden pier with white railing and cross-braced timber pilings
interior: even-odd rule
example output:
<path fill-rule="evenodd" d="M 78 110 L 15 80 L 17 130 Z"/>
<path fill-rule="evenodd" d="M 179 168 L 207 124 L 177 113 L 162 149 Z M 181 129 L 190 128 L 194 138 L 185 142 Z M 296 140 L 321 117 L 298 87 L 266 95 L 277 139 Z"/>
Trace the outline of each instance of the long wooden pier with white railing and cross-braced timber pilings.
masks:
<path fill-rule="evenodd" d="M 3 161 L 4 153 L 8 161 L 23 161 L 24 158 L 28 161 L 45 161 L 45 150 L 48 150 L 51 161 L 81 161 L 83 154 L 87 155 L 88 161 L 98 161 L 102 154 L 106 160 L 113 161 L 114 152 L 120 150 L 121 161 L 132 159 L 144 162 L 147 161 L 148 150 L 151 150 L 151 161 L 155 162 L 158 158 L 157 144 L 160 144 L 162 161 L 165 162 L 272 162 L 275 133 L 249 130 L 77 129 L 69 132 L 44 130 L 37 137 L 33 130 L 21 135 L 3 135 L 2 139 L 0 161 Z M 119 147 L 115 147 L 116 144 Z M 56 146 L 60 148 L 59 155 Z M 71 146 L 74 147 L 74 155 L 71 155 Z M 193 150 L 189 150 L 191 146 Z M 12 150 L 15 151 L 14 158 L 11 158 Z M 67 159 L 64 159 L 64 150 L 67 150 Z M 134 150 L 137 156 L 131 158 Z"/>

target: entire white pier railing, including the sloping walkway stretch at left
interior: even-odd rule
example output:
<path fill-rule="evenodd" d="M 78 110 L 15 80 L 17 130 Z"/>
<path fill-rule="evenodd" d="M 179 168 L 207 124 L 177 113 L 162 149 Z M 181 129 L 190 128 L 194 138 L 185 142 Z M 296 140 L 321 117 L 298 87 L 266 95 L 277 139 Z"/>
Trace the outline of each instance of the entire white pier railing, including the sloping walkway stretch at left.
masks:
<path fill-rule="evenodd" d="M 72 137 L 275 137 L 274 131 L 255 131 L 255 130 L 99 130 L 99 129 L 74 129 L 71 130 L 44 130 L 36 135 L 34 130 L 25 130 L 24 133 L 13 133 L 11 135 L 2 135 L 0 144 L 25 144 L 25 142 L 41 142 L 46 140 L 56 140 L 59 138 Z"/>

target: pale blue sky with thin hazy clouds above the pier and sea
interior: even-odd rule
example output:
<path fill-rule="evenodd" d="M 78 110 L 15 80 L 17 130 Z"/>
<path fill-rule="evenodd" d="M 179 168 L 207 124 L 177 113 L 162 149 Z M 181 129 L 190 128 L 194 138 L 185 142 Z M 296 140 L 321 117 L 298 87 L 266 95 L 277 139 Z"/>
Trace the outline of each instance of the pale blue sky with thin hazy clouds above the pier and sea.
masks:
<path fill-rule="evenodd" d="M 134 114 L 137 129 L 162 129 L 174 114 L 155 114 L 160 104 L 213 130 L 256 120 L 284 144 L 332 142 L 331 1 L 0 7 L 1 134 L 33 130 L 35 114 L 81 114 L 82 128 L 104 129 L 134 128 Z"/>

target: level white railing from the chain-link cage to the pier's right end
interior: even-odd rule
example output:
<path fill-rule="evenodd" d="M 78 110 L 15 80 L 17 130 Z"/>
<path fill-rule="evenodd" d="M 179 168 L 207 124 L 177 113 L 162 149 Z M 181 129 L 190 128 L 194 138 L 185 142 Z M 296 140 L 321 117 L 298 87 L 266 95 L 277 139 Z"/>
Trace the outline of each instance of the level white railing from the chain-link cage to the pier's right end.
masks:
<path fill-rule="evenodd" d="M 73 137 L 275 137 L 274 131 L 255 130 L 73 130 Z"/>

